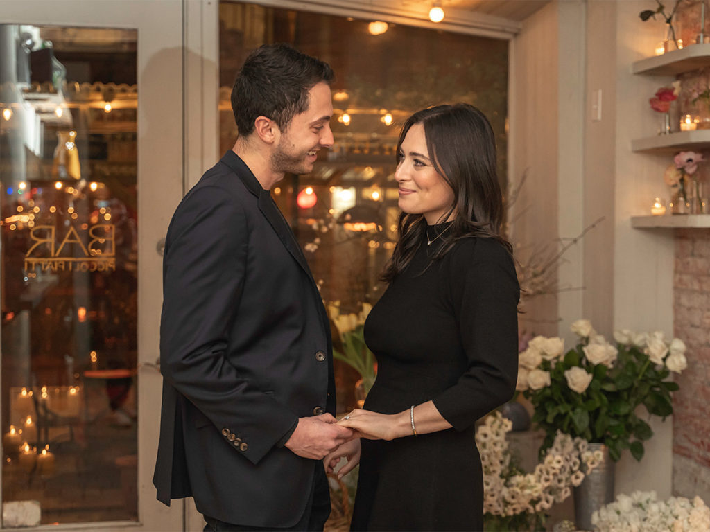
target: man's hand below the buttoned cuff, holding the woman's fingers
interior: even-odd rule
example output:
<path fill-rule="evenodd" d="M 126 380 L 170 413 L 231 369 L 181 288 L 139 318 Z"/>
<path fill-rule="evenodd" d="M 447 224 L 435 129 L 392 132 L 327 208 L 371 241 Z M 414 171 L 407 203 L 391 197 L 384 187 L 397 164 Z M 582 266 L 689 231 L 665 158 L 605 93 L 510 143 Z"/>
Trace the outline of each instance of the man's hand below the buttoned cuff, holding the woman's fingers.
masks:
<path fill-rule="evenodd" d="M 298 419 L 296 430 L 285 447 L 302 458 L 322 460 L 328 453 L 354 438 L 351 429 L 335 424 L 330 414 Z"/>

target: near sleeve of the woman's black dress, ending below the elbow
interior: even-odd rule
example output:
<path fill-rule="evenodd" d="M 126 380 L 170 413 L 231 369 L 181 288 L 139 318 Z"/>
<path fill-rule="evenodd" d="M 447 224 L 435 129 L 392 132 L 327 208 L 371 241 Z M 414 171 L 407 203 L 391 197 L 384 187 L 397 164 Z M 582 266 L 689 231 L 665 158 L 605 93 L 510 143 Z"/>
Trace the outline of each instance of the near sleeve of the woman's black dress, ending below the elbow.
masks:
<path fill-rule="evenodd" d="M 449 287 L 467 368 L 454 386 L 435 397 L 444 419 L 464 431 L 510 400 L 518 375 L 518 299 L 513 258 L 489 238 L 452 250 Z"/>

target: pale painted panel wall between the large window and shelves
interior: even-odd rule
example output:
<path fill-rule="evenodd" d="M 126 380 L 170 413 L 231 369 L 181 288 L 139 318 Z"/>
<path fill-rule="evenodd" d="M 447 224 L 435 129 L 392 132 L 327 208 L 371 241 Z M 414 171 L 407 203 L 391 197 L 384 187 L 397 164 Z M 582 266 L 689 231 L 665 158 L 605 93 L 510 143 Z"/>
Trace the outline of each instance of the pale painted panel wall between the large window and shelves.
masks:
<path fill-rule="evenodd" d="M 559 316 L 559 326 L 545 333 L 559 331 L 568 345 L 569 323 L 580 317 L 607 338 L 614 328 L 672 334 L 672 233 L 630 227 L 630 216 L 646 214 L 664 194 L 668 164 L 667 156 L 630 151 L 631 138 L 657 131 L 648 99 L 672 81 L 630 74 L 630 64 L 652 55 L 660 35 L 658 23 L 638 17 L 643 9 L 648 1 L 557 0 L 526 19 L 512 44 L 510 167 L 517 174 L 529 169 L 518 207 L 532 206 L 515 240 L 574 237 L 605 217 L 559 270 L 560 287 L 584 290 L 528 309 Z M 599 89 L 601 121 L 593 121 L 591 95 Z M 642 462 L 627 455 L 618 462 L 618 493 L 655 489 L 670 496 L 672 420 L 651 425 L 655 436 Z"/>

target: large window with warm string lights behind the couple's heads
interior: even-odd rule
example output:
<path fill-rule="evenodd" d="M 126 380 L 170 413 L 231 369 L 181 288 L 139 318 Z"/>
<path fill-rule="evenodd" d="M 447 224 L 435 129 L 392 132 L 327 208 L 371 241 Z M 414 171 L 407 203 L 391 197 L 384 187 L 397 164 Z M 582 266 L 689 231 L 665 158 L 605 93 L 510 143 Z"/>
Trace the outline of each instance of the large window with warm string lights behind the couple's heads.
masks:
<path fill-rule="evenodd" d="M 222 1 L 219 14 L 222 153 L 236 139 L 231 85 L 253 48 L 290 43 L 333 67 L 335 143 L 320 150 L 311 174 L 286 176 L 272 194 L 329 307 L 334 348 L 358 348 L 358 324 L 383 291 L 378 277 L 394 247 L 399 128 L 426 106 L 479 107 L 496 133 L 504 184 L 508 42 L 232 1 Z M 361 399 L 362 373 L 336 360 L 340 411 Z"/>

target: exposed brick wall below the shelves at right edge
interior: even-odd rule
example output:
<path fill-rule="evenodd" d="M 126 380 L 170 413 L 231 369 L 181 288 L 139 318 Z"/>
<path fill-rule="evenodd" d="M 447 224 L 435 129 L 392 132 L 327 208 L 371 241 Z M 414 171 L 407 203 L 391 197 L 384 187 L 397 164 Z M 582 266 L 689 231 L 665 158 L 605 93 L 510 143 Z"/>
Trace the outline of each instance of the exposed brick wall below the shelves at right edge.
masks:
<path fill-rule="evenodd" d="M 688 360 L 673 400 L 673 492 L 710 501 L 710 229 L 676 230 L 673 284 Z"/>

